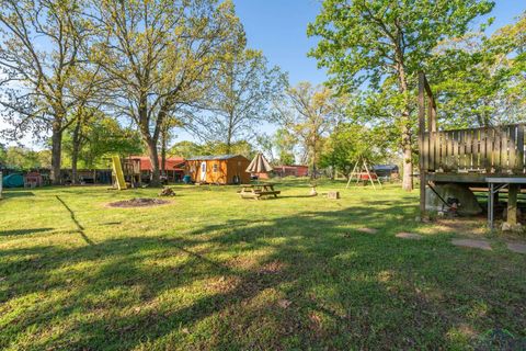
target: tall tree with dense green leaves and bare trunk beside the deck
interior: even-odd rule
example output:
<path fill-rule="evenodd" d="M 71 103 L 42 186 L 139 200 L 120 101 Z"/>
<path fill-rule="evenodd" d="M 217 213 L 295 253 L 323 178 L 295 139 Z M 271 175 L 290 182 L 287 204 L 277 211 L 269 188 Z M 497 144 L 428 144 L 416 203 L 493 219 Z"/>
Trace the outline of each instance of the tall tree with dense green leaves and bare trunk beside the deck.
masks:
<path fill-rule="evenodd" d="M 308 35 L 319 36 L 310 56 L 329 69 L 330 83 L 350 91 L 368 86 L 398 90 L 404 190 L 412 190 L 412 100 L 416 73 L 426 68 L 433 48 L 460 36 L 469 23 L 491 11 L 488 0 L 324 0 Z"/>

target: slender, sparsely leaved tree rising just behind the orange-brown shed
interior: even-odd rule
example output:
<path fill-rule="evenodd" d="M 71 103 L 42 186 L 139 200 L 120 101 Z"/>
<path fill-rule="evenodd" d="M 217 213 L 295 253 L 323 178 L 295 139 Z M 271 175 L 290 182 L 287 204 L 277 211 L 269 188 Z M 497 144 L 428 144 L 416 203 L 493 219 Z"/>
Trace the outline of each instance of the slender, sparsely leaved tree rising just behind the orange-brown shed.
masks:
<path fill-rule="evenodd" d="M 204 140 L 225 143 L 247 138 L 270 117 L 271 102 L 285 87 L 286 76 L 270 68 L 259 50 L 236 49 L 220 61 L 201 112 L 188 113 L 187 128 Z"/>

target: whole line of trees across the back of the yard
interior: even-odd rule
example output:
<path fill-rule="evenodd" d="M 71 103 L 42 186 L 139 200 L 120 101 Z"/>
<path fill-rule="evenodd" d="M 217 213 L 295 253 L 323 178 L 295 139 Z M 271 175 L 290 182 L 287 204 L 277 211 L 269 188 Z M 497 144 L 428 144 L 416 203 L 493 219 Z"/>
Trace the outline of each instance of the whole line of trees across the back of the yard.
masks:
<path fill-rule="evenodd" d="M 75 170 L 106 154 L 146 152 L 156 184 L 159 159 L 170 155 L 262 150 L 274 162 L 308 163 L 312 174 L 401 158 L 411 190 L 420 70 L 442 127 L 525 115 L 526 18 L 487 35 L 488 0 L 325 0 L 307 33 L 319 39 L 309 55 L 328 69 L 327 84 L 295 87 L 247 46 L 229 0 L 1 8 L 3 135 L 50 134 L 54 182 L 65 159 Z M 263 133 L 266 124 L 276 133 Z M 196 143 L 172 145 L 182 128 Z"/>

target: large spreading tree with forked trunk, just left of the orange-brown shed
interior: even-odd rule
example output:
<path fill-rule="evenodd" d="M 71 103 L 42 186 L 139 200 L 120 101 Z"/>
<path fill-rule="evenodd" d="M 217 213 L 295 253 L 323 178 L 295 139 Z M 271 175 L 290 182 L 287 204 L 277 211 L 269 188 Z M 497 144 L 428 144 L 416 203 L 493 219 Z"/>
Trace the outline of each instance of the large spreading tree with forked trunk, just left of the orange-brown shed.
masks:
<path fill-rule="evenodd" d="M 159 183 L 164 120 L 199 100 L 217 63 L 243 39 L 233 4 L 199 1 L 95 1 L 103 29 L 95 55 L 111 79 L 108 104 L 137 125 Z"/>

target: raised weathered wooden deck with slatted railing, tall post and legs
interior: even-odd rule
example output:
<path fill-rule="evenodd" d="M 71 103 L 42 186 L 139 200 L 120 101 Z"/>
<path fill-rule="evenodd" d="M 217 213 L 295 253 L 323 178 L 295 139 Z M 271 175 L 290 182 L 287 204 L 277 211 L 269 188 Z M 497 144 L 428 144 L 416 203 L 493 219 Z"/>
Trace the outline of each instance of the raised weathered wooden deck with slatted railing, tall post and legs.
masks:
<path fill-rule="evenodd" d="M 426 186 L 455 183 L 488 191 L 488 224 L 493 227 L 499 194 L 507 188 L 507 224 L 517 224 L 517 194 L 526 184 L 525 124 L 438 131 L 436 103 L 423 72 L 419 77 L 420 211 Z"/>

